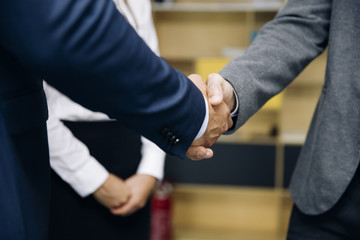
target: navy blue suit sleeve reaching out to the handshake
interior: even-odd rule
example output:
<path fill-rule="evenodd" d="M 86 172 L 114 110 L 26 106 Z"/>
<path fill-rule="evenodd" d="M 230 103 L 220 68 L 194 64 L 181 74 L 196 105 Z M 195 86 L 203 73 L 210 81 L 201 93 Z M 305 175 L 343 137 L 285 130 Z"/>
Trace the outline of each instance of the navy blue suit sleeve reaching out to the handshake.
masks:
<path fill-rule="evenodd" d="M 111 1 L 7 1 L 0 19 L 1 47 L 33 78 L 185 155 L 205 117 L 203 96 L 147 47 Z"/>

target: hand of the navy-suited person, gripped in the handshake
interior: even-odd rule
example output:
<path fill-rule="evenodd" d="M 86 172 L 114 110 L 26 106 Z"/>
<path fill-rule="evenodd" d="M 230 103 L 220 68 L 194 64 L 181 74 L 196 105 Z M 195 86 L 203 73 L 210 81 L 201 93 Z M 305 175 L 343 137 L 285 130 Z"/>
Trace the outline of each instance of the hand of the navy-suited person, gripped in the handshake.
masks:
<path fill-rule="evenodd" d="M 207 98 L 206 85 L 200 75 L 192 74 L 188 77 L 199 88 L 202 94 Z M 218 90 L 217 88 L 215 88 Z M 215 94 L 217 94 L 215 92 Z M 216 96 L 216 95 L 213 95 Z M 220 96 L 222 99 L 222 95 Z M 213 152 L 209 149 L 221 134 L 226 132 L 232 126 L 229 107 L 222 101 L 216 102 L 215 106 L 209 104 L 209 123 L 203 136 L 195 140 L 188 149 L 186 156 L 192 160 L 211 158 Z"/>

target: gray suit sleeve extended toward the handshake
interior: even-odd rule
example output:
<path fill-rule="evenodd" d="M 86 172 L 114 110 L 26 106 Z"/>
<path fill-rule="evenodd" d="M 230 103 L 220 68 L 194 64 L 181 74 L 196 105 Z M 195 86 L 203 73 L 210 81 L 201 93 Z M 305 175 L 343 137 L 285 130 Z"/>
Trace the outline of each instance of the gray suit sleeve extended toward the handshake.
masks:
<path fill-rule="evenodd" d="M 327 46 L 330 0 L 290 0 L 243 56 L 220 74 L 234 87 L 239 112 L 233 131 L 282 91 Z"/>

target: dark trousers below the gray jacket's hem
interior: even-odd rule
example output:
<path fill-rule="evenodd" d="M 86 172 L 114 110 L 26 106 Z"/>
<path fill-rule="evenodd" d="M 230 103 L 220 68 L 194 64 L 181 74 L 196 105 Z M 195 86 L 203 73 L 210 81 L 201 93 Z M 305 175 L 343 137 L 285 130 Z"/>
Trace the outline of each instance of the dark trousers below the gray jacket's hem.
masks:
<path fill-rule="evenodd" d="M 339 202 L 327 212 L 310 216 L 294 206 L 288 240 L 359 240 L 360 171 L 355 173 Z"/>

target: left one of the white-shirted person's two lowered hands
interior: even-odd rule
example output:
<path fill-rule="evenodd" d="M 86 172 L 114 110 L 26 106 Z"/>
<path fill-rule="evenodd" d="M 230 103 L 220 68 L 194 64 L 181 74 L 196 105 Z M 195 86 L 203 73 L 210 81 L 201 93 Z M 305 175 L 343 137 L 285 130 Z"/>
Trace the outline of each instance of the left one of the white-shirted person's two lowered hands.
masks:
<path fill-rule="evenodd" d="M 103 185 L 93 193 L 95 199 L 109 209 L 120 207 L 130 197 L 129 186 L 114 174 L 109 174 Z"/>

